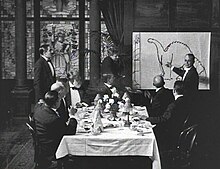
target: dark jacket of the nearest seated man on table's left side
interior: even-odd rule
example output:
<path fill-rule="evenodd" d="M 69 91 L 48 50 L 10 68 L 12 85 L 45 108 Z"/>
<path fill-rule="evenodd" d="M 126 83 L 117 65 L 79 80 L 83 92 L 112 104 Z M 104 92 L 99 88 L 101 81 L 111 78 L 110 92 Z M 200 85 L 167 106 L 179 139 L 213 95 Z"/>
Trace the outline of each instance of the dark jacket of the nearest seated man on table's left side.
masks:
<path fill-rule="evenodd" d="M 63 135 L 75 134 L 76 126 L 67 126 L 55 111 L 44 104 L 36 106 L 33 118 L 39 141 L 40 161 L 54 160 Z"/>

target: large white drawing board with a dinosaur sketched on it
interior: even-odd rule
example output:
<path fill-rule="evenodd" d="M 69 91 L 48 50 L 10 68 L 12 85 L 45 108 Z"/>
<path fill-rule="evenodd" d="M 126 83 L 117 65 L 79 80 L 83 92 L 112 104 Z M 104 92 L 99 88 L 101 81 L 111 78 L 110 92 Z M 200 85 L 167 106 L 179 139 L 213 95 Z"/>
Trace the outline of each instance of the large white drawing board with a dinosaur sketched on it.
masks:
<path fill-rule="evenodd" d="M 193 53 L 199 89 L 209 89 L 210 41 L 210 32 L 133 32 L 133 87 L 154 89 L 153 77 L 163 75 L 165 86 L 172 89 L 180 77 L 165 64 L 181 67 L 185 55 Z"/>

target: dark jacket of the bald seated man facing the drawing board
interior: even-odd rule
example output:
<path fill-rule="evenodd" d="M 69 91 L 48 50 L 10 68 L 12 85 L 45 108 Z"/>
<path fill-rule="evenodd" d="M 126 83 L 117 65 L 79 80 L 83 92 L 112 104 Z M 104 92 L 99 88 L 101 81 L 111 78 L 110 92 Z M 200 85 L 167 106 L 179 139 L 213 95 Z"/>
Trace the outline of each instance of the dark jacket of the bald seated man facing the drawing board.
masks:
<path fill-rule="evenodd" d="M 148 107 L 150 117 L 157 117 L 163 115 L 167 106 L 174 101 L 172 92 L 162 87 L 159 89 L 152 98 L 152 102 Z"/>

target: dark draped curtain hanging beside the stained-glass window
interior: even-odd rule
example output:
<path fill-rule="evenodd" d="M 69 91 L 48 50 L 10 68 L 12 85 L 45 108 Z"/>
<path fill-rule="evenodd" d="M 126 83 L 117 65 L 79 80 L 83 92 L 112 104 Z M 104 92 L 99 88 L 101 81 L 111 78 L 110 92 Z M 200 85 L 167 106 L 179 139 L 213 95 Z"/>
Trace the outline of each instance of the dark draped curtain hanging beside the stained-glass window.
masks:
<path fill-rule="evenodd" d="M 110 37 L 121 52 L 124 36 L 124 0 L 100 0 L 99 4 Z"/>

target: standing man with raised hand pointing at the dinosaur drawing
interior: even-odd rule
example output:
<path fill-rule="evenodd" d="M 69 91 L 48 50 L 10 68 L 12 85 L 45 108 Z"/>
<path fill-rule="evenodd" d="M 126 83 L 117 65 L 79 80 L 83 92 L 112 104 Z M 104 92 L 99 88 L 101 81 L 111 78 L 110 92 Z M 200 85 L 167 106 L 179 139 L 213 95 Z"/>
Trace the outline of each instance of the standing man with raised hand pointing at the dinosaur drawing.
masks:
<path fill-rule="evenodd" d="M 184 68 L 177 68 L 167 63 L 166 66 L 171 68 L 176 74 L 182 77 L 184 81 L 184 94 L 187 97 L 193 97 L 198 93 L 199 88 L 199 75 L 196 68 L 193 66 L 195 63 L 195 56 L 192 53 L 186 54 L 184 60 Z M 191 98 L 192 99 L 192 98 Z"/>

